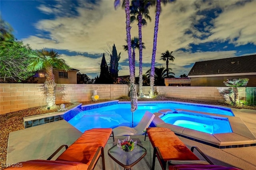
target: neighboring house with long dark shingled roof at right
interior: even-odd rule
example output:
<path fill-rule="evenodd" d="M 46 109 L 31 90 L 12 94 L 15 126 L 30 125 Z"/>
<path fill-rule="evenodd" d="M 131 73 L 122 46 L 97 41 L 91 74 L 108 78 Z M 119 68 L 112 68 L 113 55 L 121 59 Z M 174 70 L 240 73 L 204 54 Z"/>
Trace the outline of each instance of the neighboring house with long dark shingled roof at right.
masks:
<path fill-rule="evenodd" d="M 191 86 L 225 86 L 227 79 L 249 78 L 247 87 L 256 87 L 256 54 L 195 62 L 188 78 Z"/>

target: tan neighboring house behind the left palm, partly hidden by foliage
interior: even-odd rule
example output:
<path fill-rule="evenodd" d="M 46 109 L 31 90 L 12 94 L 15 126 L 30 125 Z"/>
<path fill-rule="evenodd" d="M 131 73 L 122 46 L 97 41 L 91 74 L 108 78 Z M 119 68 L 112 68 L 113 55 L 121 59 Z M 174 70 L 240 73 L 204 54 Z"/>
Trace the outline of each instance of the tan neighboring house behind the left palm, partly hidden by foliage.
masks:
<path fill-rule="evenodd" d="M 67 72 L 65 70 L 61 70 L 58 68 L 53 68 L 53 74 L 54 74 L 54 80 L 57 84 L 76 84 L 76 73 L 79 72 L 79 70 L 76 70 L 74 68 L 71 68 Z M 36 72 L 34 75 L 35 80 L 37 80 L 37 83 L 44 83 L 45 81 L 45 70 L 40 70 Z"/>

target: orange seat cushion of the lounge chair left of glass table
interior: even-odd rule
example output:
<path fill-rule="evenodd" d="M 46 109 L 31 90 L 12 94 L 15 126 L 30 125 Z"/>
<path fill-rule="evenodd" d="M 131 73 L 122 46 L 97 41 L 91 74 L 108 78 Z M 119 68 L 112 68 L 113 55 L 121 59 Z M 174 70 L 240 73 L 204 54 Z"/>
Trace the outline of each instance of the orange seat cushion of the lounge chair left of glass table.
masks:
<path fill-rule="evenodd" d="M 111 133 L 112 128 L 94 128 L 86 130 L 84 134 L 70 145 L 56 160 L 80 162 L 90 165 L 98 147 L 105 147 Z"/>

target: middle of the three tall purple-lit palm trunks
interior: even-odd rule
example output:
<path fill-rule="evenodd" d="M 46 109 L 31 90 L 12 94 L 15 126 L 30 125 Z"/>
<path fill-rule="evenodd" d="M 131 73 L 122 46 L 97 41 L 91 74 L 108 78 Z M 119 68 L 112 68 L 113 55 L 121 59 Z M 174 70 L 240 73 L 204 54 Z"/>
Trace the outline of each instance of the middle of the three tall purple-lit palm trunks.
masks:
<path fill-rule="evenodd" d="M 139 29 L 139 97 L 143 96 L 142 92 L 142 85 L 143 85 L 143 80 L 142 80 L 142 15 L 139 14 L 138 16 L 138 29 Z"/>

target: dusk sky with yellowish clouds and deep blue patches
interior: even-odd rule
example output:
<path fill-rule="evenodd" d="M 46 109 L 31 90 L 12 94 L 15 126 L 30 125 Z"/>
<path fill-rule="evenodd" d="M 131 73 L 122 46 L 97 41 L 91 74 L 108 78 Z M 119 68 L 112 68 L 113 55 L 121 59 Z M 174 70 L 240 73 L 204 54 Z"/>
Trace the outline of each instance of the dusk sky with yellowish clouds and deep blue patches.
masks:
<path fill-rule="evenodd" d="M 188 74 L 197 61 L 256 54 L 256 0 L 177 0 L 162 6 L 158 30 L 156 67 L 166 68 L 161 53 L 174 51 L 169 68 L 175 77 Z M 102 54 L 108 44 L 121 52 L 119 76 L 129 74 L 124 9 L 114 0 L 1 0 L 0 14 L 14 29 L 14 36 L 33 49 L 49 48 L 80 73 L 100 75 Z M 142 28 L 143 74 L 150 69 L 155 7 Z M 138 26 L 131 24 L 131 37 Z M 136 51 L 136 76 L 138 76 Z M 105 52 L 109 64 L 110 56 Z"/>

